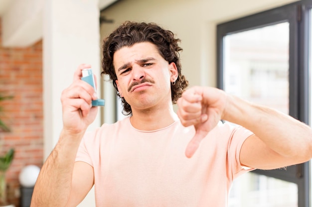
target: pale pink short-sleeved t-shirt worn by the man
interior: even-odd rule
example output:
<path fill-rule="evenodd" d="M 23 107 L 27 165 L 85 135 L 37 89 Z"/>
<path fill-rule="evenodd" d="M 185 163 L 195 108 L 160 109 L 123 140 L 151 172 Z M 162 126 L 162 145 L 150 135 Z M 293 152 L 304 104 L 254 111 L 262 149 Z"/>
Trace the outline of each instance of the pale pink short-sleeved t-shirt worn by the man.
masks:
<path fill-rule="evenodd" d="M 155 131 L 129 118 L 85 134 L 76 161 L 94 168 L 97 207 L 226 207 L 234 178 L 246 172 L 239 153 L 252 132 L 220 124 L 191 158 L 194 127 L 175 121 Z"/>

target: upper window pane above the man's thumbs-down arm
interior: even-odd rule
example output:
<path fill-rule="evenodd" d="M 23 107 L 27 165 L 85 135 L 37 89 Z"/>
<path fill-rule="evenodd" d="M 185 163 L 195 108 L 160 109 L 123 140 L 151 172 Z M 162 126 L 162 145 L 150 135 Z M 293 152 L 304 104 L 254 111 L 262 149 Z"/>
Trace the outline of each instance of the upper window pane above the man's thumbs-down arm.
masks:
<path fill-rule="evenodd" d="M 289 23 L 224 38 L 224 90 L 289 113 Z"/>

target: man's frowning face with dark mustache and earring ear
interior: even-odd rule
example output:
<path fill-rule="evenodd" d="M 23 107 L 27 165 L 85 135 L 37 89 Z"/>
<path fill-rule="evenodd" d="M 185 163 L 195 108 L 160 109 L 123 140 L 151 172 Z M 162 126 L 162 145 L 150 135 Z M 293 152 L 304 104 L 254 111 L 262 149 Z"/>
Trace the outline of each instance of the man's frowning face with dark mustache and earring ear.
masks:
<path fill-rule="evenodd" d="M 177 69 L 161 57 L 154 44 L 123 47 L 113 58 L 118 91 L 132 111 L 171 104 L 170 82 L 176 80 Z"/>

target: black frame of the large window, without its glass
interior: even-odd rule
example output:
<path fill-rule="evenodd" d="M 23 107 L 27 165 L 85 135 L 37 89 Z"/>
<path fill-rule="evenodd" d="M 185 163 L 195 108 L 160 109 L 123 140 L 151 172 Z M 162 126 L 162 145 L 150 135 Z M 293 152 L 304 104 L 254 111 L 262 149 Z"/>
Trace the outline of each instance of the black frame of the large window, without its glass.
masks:
<path fill-rule="evenodd" d="M 312 0 L 249 15 L 217 25 L 217 87 L 223 89 L 223 38 L 226 35 L 289 22 L 289 115 L 309 123 L 309 44 Z M 298 185 L 298 207 L 311 207 L 310 161 L 286 169 L 255 170 L 253 173 L 274 177 Z"/>

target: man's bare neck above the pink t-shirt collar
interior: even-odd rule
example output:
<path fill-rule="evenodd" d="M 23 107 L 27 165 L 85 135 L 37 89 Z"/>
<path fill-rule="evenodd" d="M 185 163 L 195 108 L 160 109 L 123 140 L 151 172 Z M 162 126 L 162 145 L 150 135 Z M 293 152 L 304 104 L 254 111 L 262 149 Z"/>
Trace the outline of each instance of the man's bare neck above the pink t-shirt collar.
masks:
<path fill-rule="evenodd" d="M 133 110 L 130 122 L 138 130 L 153 131 L 169 126 L 177 115 L 173 111 L 172 104 L 165 109 Z"/>

